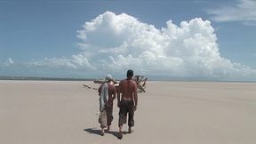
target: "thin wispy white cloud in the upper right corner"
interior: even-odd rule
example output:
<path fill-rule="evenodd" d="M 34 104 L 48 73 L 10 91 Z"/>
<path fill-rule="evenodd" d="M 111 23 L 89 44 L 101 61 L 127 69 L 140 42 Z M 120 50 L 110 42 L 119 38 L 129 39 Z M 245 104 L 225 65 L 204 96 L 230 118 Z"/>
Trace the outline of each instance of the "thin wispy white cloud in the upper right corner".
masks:
<path fill-rule="evenodd" d="M 215 21 L 240 21 L 245 25 L 256 26 L 256 1 L 238 0 L 237 2 L 209 10 L 208 13 L 213 15 L 212 20 Z"/>

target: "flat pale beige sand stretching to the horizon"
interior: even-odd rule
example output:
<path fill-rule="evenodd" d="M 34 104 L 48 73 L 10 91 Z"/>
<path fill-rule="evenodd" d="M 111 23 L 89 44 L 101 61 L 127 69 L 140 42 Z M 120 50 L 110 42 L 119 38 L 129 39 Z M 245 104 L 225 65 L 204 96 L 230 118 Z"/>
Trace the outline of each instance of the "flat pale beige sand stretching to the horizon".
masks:
<path fill-rule="evenodd" d="M 255 144 L 256 84 L 148 82 L 132 134 L 99 135 L 92 82 L 0 81 L 2 144 Z M 127 125 L 124 125 L 127 131 Z"/>

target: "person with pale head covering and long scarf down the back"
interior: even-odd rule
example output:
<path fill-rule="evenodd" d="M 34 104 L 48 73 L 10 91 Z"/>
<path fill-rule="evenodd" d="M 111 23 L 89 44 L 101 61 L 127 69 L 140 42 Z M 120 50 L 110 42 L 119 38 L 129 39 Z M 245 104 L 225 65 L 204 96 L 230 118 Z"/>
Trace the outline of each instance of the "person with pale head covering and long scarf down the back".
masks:
<path fill-rule="evenodd" d="M 111 84 L 113 78 L 111 75 L 105 77 L 105 83 L 101 84 L 98 92 L 100 95 L 100 135 L 104 135 L 104 128 L 108 126 L 107 131 L 110 129 L 111 122 L 113 121 L 113 100 L 116 99 L 116 87 Z"/>

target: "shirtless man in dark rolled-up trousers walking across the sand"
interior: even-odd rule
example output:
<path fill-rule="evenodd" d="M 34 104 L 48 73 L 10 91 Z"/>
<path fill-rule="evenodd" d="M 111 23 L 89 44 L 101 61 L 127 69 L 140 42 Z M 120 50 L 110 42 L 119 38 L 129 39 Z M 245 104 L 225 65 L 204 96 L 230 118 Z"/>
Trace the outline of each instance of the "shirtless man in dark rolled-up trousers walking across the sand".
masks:
<path fill-rule="evenodd" d="M 126 74 L 127 78 L 119 83 L 117 91 L 117 106 L 119 107 L 119 135 L 118 138 L 123 138 L 123 124 L 126 124 L 127 113 L 128 113 L 128 132 L 132 133 L 132 126 L 134 126 L 134 111 L 137 108 L 138 95 L 137 95 L 137 84 L 132 80 L 133 71 L 129 69 Z M 122 93 L 120 99 L 120 93 Z"/>

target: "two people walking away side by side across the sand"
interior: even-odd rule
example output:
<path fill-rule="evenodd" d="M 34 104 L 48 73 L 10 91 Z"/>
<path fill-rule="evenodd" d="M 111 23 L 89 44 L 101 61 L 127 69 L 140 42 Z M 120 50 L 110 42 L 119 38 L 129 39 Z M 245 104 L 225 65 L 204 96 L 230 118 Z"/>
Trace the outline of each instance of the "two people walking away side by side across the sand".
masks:
<path fill-rule="evenodd" d="M 128 114 L 128 132 L 131 133 L 132 126 L 134 126 L 134 111 L 137 109 L 138 95 L 137 84 L 132 80 L 133 71 L 129 69 L 126 73 L 127 78 L 122 80 L 118 86 L 111 84 L 113 81 L 112 76 L 105 77 L 106 83 L 101 84 L 98 90 L 100 95 L 100 134 L 103 136 L 105 128 L 107 131 L 110 129 L 111 122 L 113 121 L 113 101 L 116 99 L 117 93 L 117 107 L 119 108 L 119 132 L 118 139 L 123 138 L 123 124 L 126 124 Z"/>

